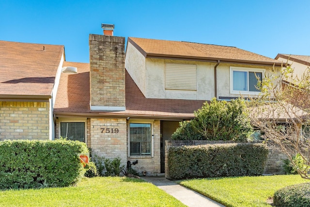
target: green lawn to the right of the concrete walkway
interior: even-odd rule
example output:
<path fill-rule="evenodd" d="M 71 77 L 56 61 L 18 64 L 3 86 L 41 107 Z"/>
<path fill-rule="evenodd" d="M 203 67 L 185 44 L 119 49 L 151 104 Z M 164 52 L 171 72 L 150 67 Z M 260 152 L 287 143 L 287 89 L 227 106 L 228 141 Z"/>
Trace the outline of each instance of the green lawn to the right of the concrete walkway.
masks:
<path fill-rule="evenodd" d="M 266 201 L 275 191 L 308 181 L 299 175 L 273 175 L 192 179 L 179 183 L 226 207 L 271 207 Z"/>

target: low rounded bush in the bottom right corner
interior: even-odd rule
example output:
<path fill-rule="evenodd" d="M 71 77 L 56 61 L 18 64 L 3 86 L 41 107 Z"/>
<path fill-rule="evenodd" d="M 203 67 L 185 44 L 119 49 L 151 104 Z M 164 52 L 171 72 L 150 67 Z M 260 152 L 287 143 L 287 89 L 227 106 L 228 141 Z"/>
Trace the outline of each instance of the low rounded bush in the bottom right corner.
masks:
<path fill-rule="evenodd" d="M 310 183 L 301 183 L 275 192 L 273 204 L 276 207 L 310 207 Z"/>

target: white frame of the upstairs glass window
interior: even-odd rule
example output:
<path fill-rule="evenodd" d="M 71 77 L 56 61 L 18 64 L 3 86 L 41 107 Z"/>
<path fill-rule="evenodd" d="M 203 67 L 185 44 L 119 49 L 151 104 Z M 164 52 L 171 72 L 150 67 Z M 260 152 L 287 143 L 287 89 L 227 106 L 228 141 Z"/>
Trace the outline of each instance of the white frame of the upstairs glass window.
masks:
<path fill-rule="evenodd" d="M 233 90 L 233 71 L 243 71 L 243 72 L 260 72 L 262 73 L 262 78 L 265 74 L 264 68 L 252 68 L 252 67 L 235 67 L 230 66 L 230 93 L 231 94 L 242 94 L 242 95 L 259 95 L 259 91 L 235 91 Z M 249 88 L 249 85 L 248 85 Z"/>

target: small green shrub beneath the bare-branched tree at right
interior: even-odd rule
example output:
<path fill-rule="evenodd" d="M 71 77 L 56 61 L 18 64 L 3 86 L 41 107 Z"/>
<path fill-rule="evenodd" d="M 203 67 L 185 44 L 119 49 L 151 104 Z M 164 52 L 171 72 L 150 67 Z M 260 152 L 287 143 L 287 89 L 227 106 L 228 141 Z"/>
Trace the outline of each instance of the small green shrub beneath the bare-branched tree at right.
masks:
<path fill-rule="evenodd" d="M 290 159 L 284 159 L 283 160 L 284 172 L 286 174 L 297 175 L 298 174 L 297 169 L 302 171 L 302 172 L 306 172 L 309 170 L 309 166 L 305 163 L 304 159 L 302 158 L 302 156 L 299 153 L 297 153 L 296 156 L 294 156 L 292 158 L 293 158 L 293 162 L 295 165 L 291 162 Z"/>

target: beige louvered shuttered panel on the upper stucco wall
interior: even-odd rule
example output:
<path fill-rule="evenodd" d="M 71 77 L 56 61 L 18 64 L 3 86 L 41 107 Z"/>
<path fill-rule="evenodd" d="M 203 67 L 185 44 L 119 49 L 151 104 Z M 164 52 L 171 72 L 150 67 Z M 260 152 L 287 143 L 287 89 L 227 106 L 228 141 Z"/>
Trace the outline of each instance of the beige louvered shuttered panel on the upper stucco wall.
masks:
<path fill-rule="evenodd" d="M 165 89 L 196 91 L 196 64 L 166 63 Z"/>

